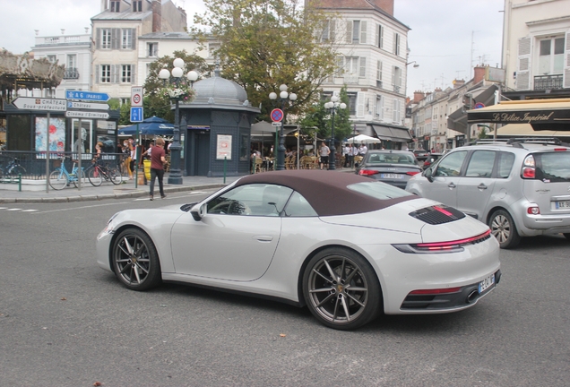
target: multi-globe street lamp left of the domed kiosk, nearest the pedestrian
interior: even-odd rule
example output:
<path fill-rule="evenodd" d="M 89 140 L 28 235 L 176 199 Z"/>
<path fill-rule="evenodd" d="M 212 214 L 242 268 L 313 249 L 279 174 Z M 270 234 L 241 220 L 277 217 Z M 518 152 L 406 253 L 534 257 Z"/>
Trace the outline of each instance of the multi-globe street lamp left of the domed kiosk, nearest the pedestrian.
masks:
<path fill-rule="evenodd" d="M 180 108 L 178 107 L 178 102 L 182 99 L 191 99 L 193 93 L 189 93 L 188 90 L 185 89 L 186 82 L 183 81 L 182 77 L 184 74 L 184 61 L 180 58 L 176 58 L 172 64 L 174 65 L 172 73 L 170 73 L 168 69 L 163 68 L 160 70 L 159 78 L 164 82 L 165 87 L 167 81 L 169 82 L 166 93 L 170 101 L 174 101 L 175 103 L 174 136 L 173 142 L 170 145 L 170 174 L 168 175 L 168 184 L 181 185 L 180 150 L 182 147 L 180 145 Z M 186 78 L 191 83 L 190 89 L 192 90 L 192 84 L 198 79 L 198 73 L 195 71 L 188 72 Z"/>

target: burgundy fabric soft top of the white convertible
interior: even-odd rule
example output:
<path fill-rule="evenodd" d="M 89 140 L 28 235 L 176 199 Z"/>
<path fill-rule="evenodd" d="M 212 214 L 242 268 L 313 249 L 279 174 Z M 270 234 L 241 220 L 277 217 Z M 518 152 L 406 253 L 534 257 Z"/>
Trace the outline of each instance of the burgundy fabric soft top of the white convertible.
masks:
<path fill-rule="evenodd" d="M 240 178 L 236 185 L 257 183 L 288 186 L 301 193 L 319 216 L 377 211 L 398 202 L 417 198 L 416 195 L 410 195 L 380 200 L 348 188 L 348 185 L 356 183 L 374 182 L 368 177 L 353 173 L 326 170 L 283 170 L 245 176 Z"/>

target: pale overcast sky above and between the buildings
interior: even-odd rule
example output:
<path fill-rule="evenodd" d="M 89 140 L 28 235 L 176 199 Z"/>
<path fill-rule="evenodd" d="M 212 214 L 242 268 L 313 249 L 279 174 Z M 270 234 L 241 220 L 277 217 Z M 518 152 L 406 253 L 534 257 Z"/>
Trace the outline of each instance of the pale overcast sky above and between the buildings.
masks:
<path fill-rule="evenodd" d="M 202 0 L 173 0 L 192 23 Z M 39 36 L 80 34 L 100 12 L 100 0 L 0 0 L 0 47 L 22 54 Z M 394 17 L 410 27 L 408 95 L 470 80 L 471 64 L 501 64 L 504 0 L 394 0 Z M 471 63 L 472 58 L 472 63 Z"/>

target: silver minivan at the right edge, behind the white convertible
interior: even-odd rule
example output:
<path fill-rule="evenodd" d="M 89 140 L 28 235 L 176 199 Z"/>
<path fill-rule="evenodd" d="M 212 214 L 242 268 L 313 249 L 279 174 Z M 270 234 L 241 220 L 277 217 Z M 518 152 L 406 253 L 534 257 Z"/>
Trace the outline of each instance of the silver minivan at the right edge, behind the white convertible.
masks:
<path fill-rule="evenodd" d="M 570 148 L 559 140 L 477 142 L 446 153 L 406 190 L 488 224 L 503 248 L 522 236 L 570 239 Z"/>

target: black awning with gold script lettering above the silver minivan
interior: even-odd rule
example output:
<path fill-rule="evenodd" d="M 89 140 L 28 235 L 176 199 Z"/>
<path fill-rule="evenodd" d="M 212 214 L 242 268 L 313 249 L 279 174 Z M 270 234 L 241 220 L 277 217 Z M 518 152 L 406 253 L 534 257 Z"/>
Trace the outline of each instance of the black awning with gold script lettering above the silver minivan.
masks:
<path fill-rule="evenodd" d="M 570 99 L 527 99 L 469 110 L 470 124 L 530 124 L 535 131 L 570 131 Z"/>

